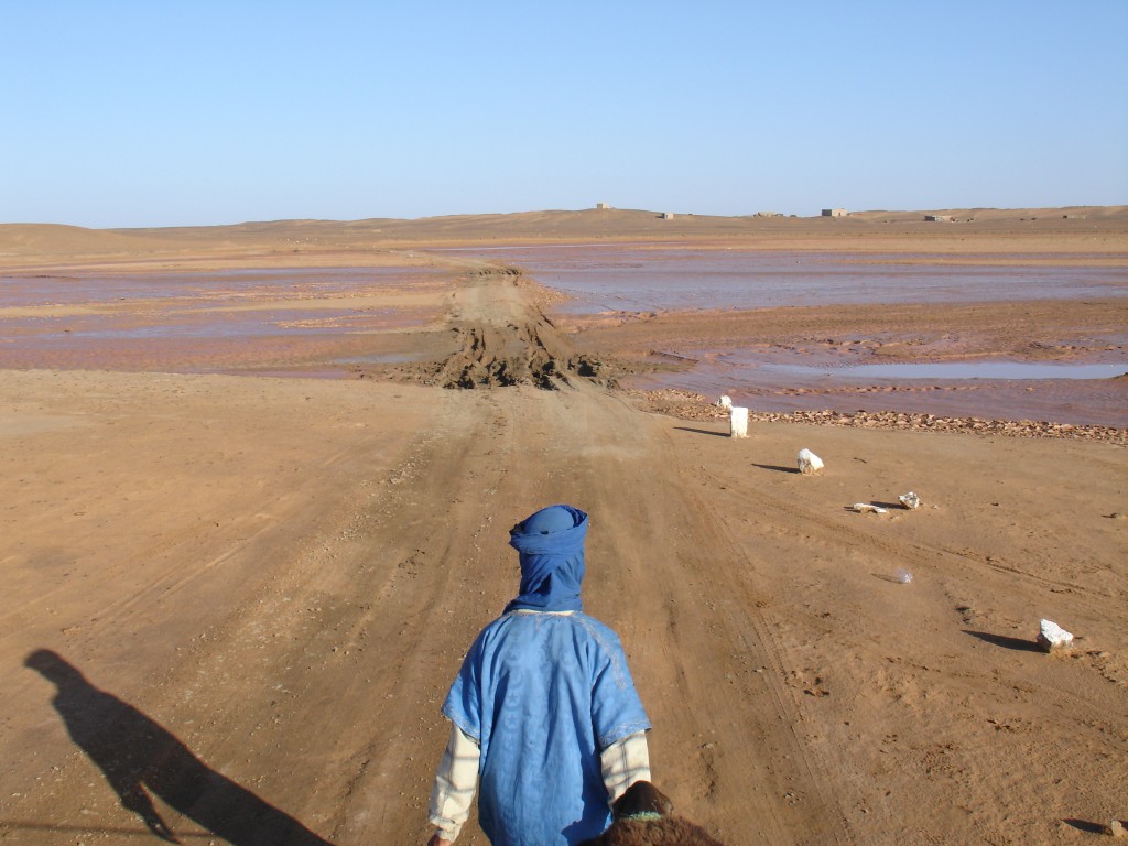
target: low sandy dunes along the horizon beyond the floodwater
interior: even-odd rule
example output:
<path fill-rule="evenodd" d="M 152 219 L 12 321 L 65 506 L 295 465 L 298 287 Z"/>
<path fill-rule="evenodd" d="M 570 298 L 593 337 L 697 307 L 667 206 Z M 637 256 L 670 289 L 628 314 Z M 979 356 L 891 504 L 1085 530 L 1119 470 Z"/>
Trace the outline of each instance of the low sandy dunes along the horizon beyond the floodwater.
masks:
<path fill-rule="evenodd" d="M 925 222 L 926 215 L 950 220 Z M 1095 236 L 1095 240 L 1094 240 Z M 51 265 L 364 264 L 389 250 L 600 239 L 759 249 L 1128 250 L 1128 206 L 862 211 L 847 217 L 715 217 L 633 209 L 464 214 L 417 220 L 280 220 L 215 227 L 83 229 L 0 224 L 0 267 Z"/>

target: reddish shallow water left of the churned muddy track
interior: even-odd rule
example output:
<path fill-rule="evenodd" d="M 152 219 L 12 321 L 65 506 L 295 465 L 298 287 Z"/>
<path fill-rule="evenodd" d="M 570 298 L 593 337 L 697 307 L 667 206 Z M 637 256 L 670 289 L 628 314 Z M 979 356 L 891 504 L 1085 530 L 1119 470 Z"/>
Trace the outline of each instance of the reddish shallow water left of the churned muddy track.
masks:
<path fill-rule="evenodd" d="M 447 277 L 415 267 L 6 276 L 0 308 L 96 310 L 0 318 L 0 367 L 201 371 L 333 363 L 337 355 L 370 353 L 365 342 L 373 336 L 433 317 L 359 300 L 353 307 L 350 300 L 439 285 Z M 287 308 L 288 301 L 319 307 Z"/>

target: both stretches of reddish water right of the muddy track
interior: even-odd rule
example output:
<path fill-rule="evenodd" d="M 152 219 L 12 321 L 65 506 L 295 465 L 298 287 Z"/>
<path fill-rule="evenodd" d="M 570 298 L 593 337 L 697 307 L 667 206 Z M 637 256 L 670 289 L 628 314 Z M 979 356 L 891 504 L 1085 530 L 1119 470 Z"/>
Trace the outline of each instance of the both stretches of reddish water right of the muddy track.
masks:
<path fill-rule="evenodd" d="M 1083 299 L 1128 296 L 1128 265 L 1073 267 L 1046 256 L 1007 256 L 1029 265 L 946 264 L 934 257 L 856 253 L 760 253 L 638 249 L 622 245 L 499 248 L 491 257 L 522 267 L 539 282 L 571 294 L 561 307 L 572 314 L 666 309 L 763 308 L 844 303 L 1006 302 L 1020 299 Z M 1068 341 L 1068 338 L 1063 338 Z M 1128 327 L 1109 343 L 1128 344 Z M 761 411 L 923 412 L 948 416 L 1041 420 L 1128 425 L 1128 371 L 1122 352 L 1085 370 L 1039 372 L 1019 362 L 922 365 L 880 372 L 813 362 L 760 351 L 693 353 L 695 367 L 681 373 L 637 380 L 642 387 L 672 387 L 706 396 L 728 394 L 737 404 Z M 1017 369 L 1016 369 L 1017 368 Z"/>

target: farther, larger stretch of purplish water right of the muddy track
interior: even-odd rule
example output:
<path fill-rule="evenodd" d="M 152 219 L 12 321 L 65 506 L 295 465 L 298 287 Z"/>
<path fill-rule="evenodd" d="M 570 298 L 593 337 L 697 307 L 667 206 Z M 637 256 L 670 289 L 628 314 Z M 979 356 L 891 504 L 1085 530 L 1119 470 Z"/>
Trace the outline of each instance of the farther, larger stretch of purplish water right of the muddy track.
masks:
<path fill-rule="evenodd" d="M 928 257 L 611 245 L 499 248 L 491 257 L 571 294 L 559 307 L 571 314 L 1128 296 L 1128 266 L 920 264 L 914 262 Z"/>

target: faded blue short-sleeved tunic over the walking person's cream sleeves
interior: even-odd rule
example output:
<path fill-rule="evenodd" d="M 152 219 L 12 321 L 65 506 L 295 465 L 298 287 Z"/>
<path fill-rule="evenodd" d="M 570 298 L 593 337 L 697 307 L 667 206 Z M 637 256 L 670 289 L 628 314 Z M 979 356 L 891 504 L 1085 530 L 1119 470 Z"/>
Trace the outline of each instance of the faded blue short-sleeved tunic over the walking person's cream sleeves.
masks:
<path fill-rule="evenodd" d="M 574 846 L 610 823 L 599 752 L 650 728 L 619 638 L 585 614 L 512 611 L 478 635 L 442 713 L 478 741 L 493 846 Z"/>

